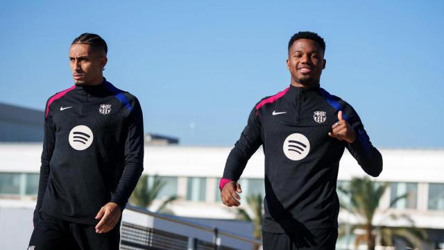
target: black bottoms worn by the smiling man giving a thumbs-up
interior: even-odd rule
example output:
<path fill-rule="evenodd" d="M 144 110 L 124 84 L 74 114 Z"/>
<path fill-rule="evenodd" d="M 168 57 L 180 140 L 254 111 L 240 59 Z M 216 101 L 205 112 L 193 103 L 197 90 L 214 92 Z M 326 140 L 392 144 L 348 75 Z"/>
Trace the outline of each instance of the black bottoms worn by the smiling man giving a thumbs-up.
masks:
<path fill-rule="evenodd" d="M 264 250 L 332 250 L 336 248 L 337 228 L 291 233 L 262 231 Z"/>

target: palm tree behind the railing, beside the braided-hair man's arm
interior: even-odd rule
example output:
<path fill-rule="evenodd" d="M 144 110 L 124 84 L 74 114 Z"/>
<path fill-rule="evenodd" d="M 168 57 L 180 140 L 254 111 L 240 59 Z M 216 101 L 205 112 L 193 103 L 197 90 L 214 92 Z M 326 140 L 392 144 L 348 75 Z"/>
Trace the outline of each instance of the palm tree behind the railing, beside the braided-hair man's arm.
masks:
<path fill-rule="evenodd" d="M 164 186 L 167 184 L 157 176 L 154 176 L 153 179 L 153 184 L 149 185 L 147 175 L 142 175 L 139 178 L 139 182 L 137 183 L 133 194 L 131 194 L 130 203 L 133 203 L 135 206 L 139 206 L 141 208 L 151 207 L 153 201 L 157 199 L 160 190 L 162 190 L 162 188 L 164 188 Z M 166 200 L 162 201 L 162 204 L 159 208 L 157 208 L 156 212 L 172 213 L 171 210 L 167 210 L 167 205 L 172 201 L 176 201 L 176 199 L 178 199 L 178 196 L 171 195 Z"/>

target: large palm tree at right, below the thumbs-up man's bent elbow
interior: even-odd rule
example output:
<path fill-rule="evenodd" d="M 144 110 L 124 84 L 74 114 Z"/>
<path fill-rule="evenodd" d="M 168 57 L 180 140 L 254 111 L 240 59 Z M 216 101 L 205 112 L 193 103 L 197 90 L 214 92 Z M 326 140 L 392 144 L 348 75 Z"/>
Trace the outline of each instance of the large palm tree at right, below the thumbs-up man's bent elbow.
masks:
<path fill-rule="evenodd" d="M 381 244 L 393 246 L 393 237 L 402 238 L 410 244 L 411 247 L 421 247 L 421 242 L 424 240 L 427 235 L 425 231 L 422 231 L 418 228 L 414 228 L 413 221 L 407 215 L 394 215 L 389 214 L 392 219 L 398 219 L 399 217 L 404 217 L 407 219 L 411 226 L 393 228 L 388 226 L 374 226 L 373 225 L 373 217 L 375 216 L 376 210 L 379 206 L 379 201 L 382 198 L 382 195 L 388 188 L 388 183 L 375 183 L 370 180 L 370 178 L 352 178 L 350 181 L 350 186 L 348 188 L 339 186 L 339 191 L 348 195 L 350 201 L 344 202 L 341 201 L 341 208 L 347 210 L 349 213 L 352 213 L 356 217 L 359 217 L 364 220 L 364 224 L 358 224 L 352 226 L 352 230 L 359 229 L 364 231 L 365 233 L 357 235 L 355 241 L 355 247 L 359 245 L 360 242 L 367 242 L 367 246 L 369 250 L 375 249 L 375 236 L 380 235 Z M 389 208 L 395 204 L 396 202 L 406 199 L 408 194 L 401 195 L 396 197 L 391 201 Z M 347 205 L 345 205 L 347 204 Z M 387 210 L 384 210 L 382 214 L 386 214 Z M 343 235 L 344 230 L 340 228 L 339 234 Z"/>

